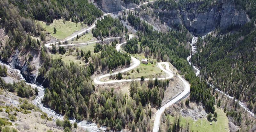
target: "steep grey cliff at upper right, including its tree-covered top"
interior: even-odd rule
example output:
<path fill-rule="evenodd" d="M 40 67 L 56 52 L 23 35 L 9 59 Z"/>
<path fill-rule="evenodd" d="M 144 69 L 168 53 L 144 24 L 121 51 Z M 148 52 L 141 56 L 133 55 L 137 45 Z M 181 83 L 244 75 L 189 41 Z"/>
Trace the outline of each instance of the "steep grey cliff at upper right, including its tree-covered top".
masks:
<path fill-rule="evenodd" d="M 204 34 L 220 27 L 244 25 L 250 21 L 246 12 L 236 9 L 234 0 L 156 1 L 155 13 L 169 26 L 184 25 L 189 32 Z"/>

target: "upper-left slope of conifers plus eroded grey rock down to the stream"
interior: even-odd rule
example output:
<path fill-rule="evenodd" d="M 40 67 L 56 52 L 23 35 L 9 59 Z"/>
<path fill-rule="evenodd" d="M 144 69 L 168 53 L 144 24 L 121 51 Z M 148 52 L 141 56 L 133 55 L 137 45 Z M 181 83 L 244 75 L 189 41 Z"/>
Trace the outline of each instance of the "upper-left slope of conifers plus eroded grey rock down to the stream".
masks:
<path fill-rule="evenodd" d="M 8 37 L 3 37 L 5 39 L 0 42 L 0 60 L 21 70 L 22 75 L 30 83 L 43 81 L 43 77 L 37 79 L 40 64 L 43 65 L 45 60 L 48 63 L 50 57 L 42 55 L 40 46 L 47 34 L 39 23 L 35 23 L 35 19 L 50 24 L 53 19 L 62 18 L 64 21 L 71 19 L 91 25 L 101 15 L 102 11 L 87 0 L 0 0 L 0 25 L 8 34 Z M 44 69 L 48 70 L 49 63 L 46 63 Z"/>

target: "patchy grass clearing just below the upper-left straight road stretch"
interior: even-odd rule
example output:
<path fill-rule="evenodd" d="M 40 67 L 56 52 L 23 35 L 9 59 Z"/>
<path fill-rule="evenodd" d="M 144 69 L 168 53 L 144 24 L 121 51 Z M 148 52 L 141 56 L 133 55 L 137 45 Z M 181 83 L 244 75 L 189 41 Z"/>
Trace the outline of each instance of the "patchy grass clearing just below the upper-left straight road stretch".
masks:
<path fill-rule="evenodd" d="M 91 52 L 93 52 L 93 46 L 95 45 L 95 43 L 93 43 L 93 44 L 88 44 L 88 45 L 84 45 L 84 46 L 81 46 L 81 47 L 76 47 L 76 48 L 78 48 L 78 52 L 79 52 L 79 54 L 80 54 L 80 52 L 81 52 L 81 49 L 85 52 L 85 53 L 87 53 L 88 52 L 88 50 L 90 49 L 90 51 Z M 58 47 L 57 47 L 57 49 L 58 49 Z M 50 52 L 49 52 L 50 53 Z M 80 58 L 80 59 L 77 59 L 77 52 L 76 52 L 76 49 L 74 49 L 74 51 L 71 53 L 71 55 L 69 54 L 69 50 L 68 49 L 66 49 L 66 53 L 64 54 L 64 55 L 61 55 L 61 54 L 59 54 L 59 53 L 56 53 L 56 54 L 51 54 L 50 53 L 50 55 L 52 55 L 52 58 L 53 59 L 57 59 L 57 58 L 62 58 L 62 60 L 64 61 L 64 62 L 66 62 L 67 64 L 69 64 L 70 62 L 74 62 L 74 63 L 76 63 L 76 64 L 80 64 L 80 65 L 85 65 L 85 62 L 82 60 L 82 58 Z"/>

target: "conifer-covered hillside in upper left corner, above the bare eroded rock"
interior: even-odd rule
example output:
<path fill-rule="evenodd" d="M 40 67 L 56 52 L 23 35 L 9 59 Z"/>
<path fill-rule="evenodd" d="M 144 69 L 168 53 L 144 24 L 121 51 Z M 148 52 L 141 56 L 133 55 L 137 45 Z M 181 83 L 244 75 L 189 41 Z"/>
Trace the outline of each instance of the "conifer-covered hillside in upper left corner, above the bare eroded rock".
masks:
<path fill-rule="evenodd" d="M 12 52 L 17 48 L 25 47 L 29 50 L 40 50 L 40 41 L 30 37 L 39 36 L 45 40 L 44 28 L 35 23 L 35 20 L 44 20 L 51 23 L 52 19 L 63 18 L 70 20 L 76 18 L 85 24 L 91 25 L 93 21 L 102 15 L 92 3 L 81 0 L 72 1 L 0 1 L 0 25 L 5 29 L 8 38 L 4 50 L 1 52 L 1 60 L 7 61 Z M 28 34 L 27 34 L 28 33 Z"/>

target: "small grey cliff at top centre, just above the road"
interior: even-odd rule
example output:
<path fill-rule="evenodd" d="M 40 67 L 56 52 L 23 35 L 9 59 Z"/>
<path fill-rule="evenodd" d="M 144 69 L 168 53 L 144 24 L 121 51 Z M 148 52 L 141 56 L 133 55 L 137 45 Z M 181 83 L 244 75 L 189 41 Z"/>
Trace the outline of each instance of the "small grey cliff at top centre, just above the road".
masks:
<path fill-rule="evenodd" d="M 125 4 L 120 0 L 99 0 L 96 3 L 98 4 L 99 8 L 106 13 L 122 11 L 125 9 L 134 8 L 138 6 L 133 3 Z"/>

